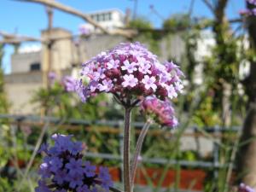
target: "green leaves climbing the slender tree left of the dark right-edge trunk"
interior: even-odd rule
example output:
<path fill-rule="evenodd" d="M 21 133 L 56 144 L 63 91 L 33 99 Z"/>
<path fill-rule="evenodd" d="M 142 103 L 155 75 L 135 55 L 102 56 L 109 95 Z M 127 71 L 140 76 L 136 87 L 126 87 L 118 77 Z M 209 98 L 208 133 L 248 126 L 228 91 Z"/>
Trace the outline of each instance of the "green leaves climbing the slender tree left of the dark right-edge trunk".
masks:
<path fill-rule="evenodd" d="M 234 103 L 234 99 L 238 96 L 239 65 L 242 58 L 238 54 L 238 39 L 231 36 L 229 31 L 222 31 L 221 34 L 218 34 L 216 41 L 219 43 L 212 49 L 212 55 L 205 59 L 204 75 L 208 77 L 207 86 L 211 87 L 214 92 L 214 101 L 212 102 L 214 108 L 212 109 L 221 112 L 223 109 L 224 84 L 230 84 L 231 86 L 231 103 Z"/>

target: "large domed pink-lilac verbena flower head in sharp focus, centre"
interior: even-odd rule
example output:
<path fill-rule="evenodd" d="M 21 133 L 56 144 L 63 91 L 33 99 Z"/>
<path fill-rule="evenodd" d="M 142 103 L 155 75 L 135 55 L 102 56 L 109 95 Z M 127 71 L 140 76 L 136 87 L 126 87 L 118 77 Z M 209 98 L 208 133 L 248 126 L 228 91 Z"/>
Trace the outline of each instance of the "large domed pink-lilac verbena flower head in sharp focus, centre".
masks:
<path fill-rule="evenodd" d="M 173 62 L 161 64 L 140 43 L 119 44 L 96 55 L 83 64 L 81 76 L 77 92 L 83 102 L 102 92 L 113 93 L 123 105 L 147 96 L 166 100 L 183 89 L 179 67 Z"/>

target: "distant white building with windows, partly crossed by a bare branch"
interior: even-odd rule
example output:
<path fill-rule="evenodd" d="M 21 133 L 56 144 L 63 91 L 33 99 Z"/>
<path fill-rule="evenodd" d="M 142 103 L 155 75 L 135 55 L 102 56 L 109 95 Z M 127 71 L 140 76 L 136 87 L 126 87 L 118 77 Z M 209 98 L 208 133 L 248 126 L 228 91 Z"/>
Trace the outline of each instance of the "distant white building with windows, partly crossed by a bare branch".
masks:
<path fill-rule="evenodd" d="M 125 15 L 119 9 L 101 10 L 88 14 L 92 20 L 95 20 L 109 31 L 125 26 Z M 90 23 L 85 23 L 79 26 L 81 32 L 94 33 L 100 32 L 95 26 Z"/>

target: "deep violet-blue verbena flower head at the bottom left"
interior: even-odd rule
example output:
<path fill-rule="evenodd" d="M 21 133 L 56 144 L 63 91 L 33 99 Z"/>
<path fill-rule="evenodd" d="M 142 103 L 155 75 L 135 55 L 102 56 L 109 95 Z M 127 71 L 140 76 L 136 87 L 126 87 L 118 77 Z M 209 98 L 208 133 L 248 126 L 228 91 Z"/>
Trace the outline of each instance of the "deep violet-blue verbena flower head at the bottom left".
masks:
<path fill-rule="evenodd" d="M 96 166 L 82 160 L 82 143 L 73 142 L 71 138 L 55 134 L 53 147 L 44 144 L 40 148 L 46 156 L 39 168 L 42 178 L 36 192 L 96 192 L 99 186 L 108 191 L 113 186 L 108 168 L 100 167 L 96 173 Z"/>

